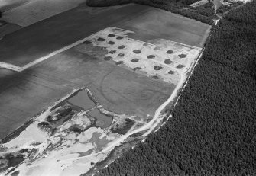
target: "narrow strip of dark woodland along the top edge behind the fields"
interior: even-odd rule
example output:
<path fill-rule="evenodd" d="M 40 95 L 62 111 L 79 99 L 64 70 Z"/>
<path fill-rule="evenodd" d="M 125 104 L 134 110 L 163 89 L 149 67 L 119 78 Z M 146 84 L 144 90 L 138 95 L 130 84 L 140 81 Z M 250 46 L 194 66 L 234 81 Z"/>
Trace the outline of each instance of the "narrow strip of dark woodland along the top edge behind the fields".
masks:
<path fill-rule="evenodd" d="M 87 0 L 86 4 L 92 7 L 122 5 L 128 3 L 150 5 L 176 14 L 181 14 L 188 18 L 202 21 L 206 24 L 214 24 L 212 19 L 216 18 L 216 16 L 212 2 L 193 8 L 190 6 L 190 4 L 193 4 L 194 2 L 198 2 L 198 0 Z"/>

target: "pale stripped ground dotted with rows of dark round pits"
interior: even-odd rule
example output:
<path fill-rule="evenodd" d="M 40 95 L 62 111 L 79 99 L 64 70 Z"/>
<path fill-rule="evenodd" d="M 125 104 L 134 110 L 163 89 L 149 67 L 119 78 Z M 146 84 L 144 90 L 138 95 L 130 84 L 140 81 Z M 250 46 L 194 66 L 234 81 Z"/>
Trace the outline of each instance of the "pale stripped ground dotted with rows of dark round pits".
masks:
<path fill-rule="evenodd" d="M 104 58 L 106 61 L 114 61 L 116 65 L 125 65 L 135 72 L 160 78 L 174 85 L 179 82 L 180 75 L 190 69 L 202 50 L 163 39 L 145 43 L 129 38 L 128 34 L 131 33 L 134 32 L 109 27 L 87 38 L 76 49 L 89 54 L 93 51 L 92 47 L 102 47 L 108 51 Z"/>

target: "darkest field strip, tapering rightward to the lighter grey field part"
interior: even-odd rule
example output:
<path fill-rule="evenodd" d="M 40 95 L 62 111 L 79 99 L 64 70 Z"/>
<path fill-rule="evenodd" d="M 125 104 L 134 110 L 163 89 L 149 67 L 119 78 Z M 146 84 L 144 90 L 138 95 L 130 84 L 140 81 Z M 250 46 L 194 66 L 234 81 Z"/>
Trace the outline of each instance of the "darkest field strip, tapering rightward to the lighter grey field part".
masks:
<path fill-rule="evenodd" d="M 24 66 L 122 21 L 127 16 L 137 17 L 141 11 L 150 8 L 142 5 L 131 6 L 102 9 L 96 14 L 92 14 L 89 8 L 78 7 L 24 27 L 1 40 L 0 61 Z"/>

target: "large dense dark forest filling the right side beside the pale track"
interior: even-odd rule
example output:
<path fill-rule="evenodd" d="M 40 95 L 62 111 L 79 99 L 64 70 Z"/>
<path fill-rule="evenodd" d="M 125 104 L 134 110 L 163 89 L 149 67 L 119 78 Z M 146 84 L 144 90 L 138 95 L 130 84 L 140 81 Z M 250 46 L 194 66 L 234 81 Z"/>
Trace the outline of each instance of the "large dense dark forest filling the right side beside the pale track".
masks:
<path fill-rule="evenodd" d="M 256 175 L 255 9 L 219 21 L 173 117 L 99 175 Z"/>

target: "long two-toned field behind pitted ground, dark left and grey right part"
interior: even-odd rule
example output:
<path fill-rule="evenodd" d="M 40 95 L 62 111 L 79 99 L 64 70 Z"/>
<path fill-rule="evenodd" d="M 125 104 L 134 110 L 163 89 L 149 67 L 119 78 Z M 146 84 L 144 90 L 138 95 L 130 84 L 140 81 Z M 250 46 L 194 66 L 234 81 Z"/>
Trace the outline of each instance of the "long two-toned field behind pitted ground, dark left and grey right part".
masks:
<path fill-rule="evenodd" d="M 135 33 L 129 37 L 145 42 L 163 38 L 199 47 L 210 29 L 208 24 L 145 5 L 79 6 L 6 35 L 0 40 L 0 62 L 24 66 L 109 26 L 132 30 Z"/>

